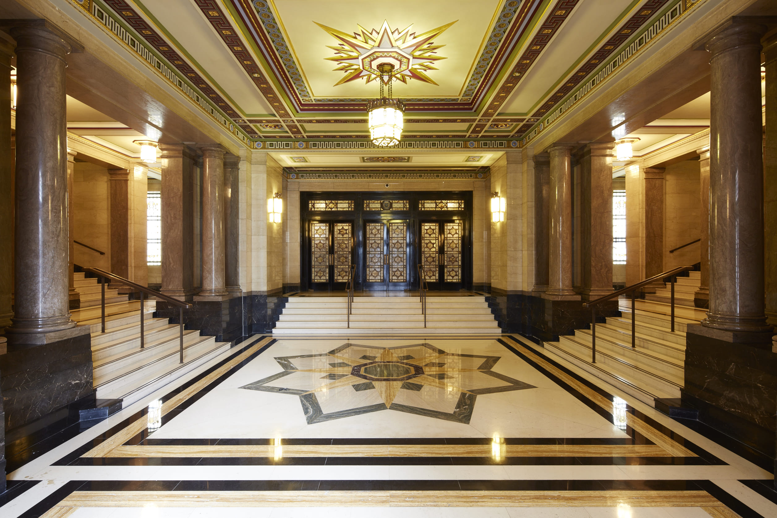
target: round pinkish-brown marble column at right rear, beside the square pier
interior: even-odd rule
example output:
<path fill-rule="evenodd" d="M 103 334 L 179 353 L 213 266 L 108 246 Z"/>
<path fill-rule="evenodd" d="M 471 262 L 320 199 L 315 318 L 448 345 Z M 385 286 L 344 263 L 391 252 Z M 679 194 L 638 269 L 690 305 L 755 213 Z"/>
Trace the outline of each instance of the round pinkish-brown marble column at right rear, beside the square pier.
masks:
<path fill-rule="evenodd" d="M 543 298 L 580 300 L 572 288 L 572 144 L 555 144 L 550 153 L 548 290 Z"/>

